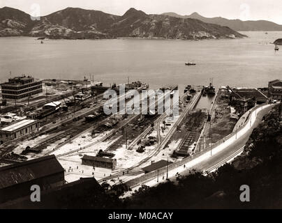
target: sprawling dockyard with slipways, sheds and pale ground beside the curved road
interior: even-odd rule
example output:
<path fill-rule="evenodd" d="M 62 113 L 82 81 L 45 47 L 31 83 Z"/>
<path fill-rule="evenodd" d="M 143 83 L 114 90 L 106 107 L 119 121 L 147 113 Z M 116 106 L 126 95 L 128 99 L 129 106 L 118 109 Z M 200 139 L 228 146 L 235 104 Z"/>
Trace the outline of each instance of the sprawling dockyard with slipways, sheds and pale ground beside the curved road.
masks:
<path fill-rule="evenodd" d="M 55 155 L 64 168 L 66 183 L 82 177 L 95 177 L 100 183 L 114 179 L 126 182 L 144 176 L 151 165 L 161 168 L 177 163 L 213 142 L 208 135 L 210 131 L 214 134 L 216 123 L 223 122 L 222 109 L 231 118 L 239 109 L 235 104 L 228 106 L 229 98 L 238 95 L 235 90 L 215 89 L 211 83 L 187 85 L 176 101 L 172 98 L 178 86 L 154 89 L 164 91 L 163 95 L 158 91 L 143 95 L 149 86 L 141 82 L 124 84 L 122 93 L 121 85 L 103 86 L 102 82 L 87 79 L 47 79 L 38 83 L 42 83 L 38 95 L 2 103 L 1 166 Z M 109 89 L 117 93 L 117 99 L 110 102 L 104 98 Z M 139 113 L 133 103 L 133 90 L 138 92 Z M 165 98 L 168 107 L 159 114 L 158 107 Z M 105 105 L 116 105 L 119 110 L 107 115 Z M 173 111 L 175 105 L 177 114 Z M 135 112 L 122 113 L 128 108 Z M 239 116 L 238 111 L 233 116 Z"/>

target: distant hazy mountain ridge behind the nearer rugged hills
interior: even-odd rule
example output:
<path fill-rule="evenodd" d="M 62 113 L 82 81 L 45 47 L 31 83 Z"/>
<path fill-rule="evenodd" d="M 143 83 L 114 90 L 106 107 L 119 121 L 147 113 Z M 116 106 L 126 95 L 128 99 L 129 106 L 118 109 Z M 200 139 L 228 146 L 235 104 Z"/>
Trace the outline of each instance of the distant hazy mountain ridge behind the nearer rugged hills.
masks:
<path fill-rule="evenodd" d="M 198 13 L 192 13 L 191 15 L 178 15 L 177 13 L 163 13 L 162 15 L 168 15 L 172 17 L 178 17 L 182 19 L 195 19 L 202 22 L 218 24 L 221 26 L 228 26 L 230 29 L 236 31 L 282 31 L 282 25 L 266 20 L 258 21 L 242 21 L 242 20 L 228 20 L 223 17 L 203 17 Z"/>

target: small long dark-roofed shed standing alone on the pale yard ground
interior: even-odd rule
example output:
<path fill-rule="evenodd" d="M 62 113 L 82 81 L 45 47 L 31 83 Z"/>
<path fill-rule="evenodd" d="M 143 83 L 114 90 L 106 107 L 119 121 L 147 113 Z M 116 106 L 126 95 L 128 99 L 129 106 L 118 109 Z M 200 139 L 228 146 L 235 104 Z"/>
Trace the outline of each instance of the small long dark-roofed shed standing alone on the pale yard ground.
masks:
<path fill-rule="evenodd" d="M 117 160 L 105 157 L 84 155 L 82 157 L 82 165 L 114 169 L 117 166 Z"/>

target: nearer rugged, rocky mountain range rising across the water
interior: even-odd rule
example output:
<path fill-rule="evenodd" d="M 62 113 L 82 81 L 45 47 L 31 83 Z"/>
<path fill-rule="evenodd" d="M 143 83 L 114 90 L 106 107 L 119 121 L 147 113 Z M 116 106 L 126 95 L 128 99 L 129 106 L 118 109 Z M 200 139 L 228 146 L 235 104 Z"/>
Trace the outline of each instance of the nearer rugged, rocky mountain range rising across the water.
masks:
<path fill-rule="evenodd" d="M 32 20 L 15 8 L 0 8 L 0 36 L 47 38 L 242 38 L 228 26 L 209 24 L 193 18 L 147 15 L 130 8 L 124 15 L 98 10 L 66 8 Z"/>

